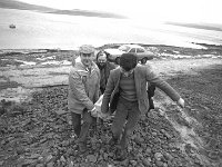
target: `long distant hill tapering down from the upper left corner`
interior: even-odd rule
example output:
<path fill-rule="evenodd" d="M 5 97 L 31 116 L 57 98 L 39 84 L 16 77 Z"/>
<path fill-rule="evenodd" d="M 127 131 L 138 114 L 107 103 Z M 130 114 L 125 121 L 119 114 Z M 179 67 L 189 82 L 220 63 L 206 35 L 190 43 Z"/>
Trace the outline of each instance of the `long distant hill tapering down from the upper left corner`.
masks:
<path fill-rule="evenodd" d="M 111 13 L 111 12 L 101 12 L 101 11 L 88 11 L 88 10 L 60 10 L 48 8 L 43 6 L 29 4 L 26 2 L 20 2 L 16 0 L 0 0 L 0 8 L 6 9 L 18 9 L 18 10 L 32 10 L 38 12 L 54 13 L 54 14 L 68 14 L 68 16 L 83 16 L 83 17 L 99 17 L 99 18 L 115 18 L 124 19 L 127 17 Z"/>

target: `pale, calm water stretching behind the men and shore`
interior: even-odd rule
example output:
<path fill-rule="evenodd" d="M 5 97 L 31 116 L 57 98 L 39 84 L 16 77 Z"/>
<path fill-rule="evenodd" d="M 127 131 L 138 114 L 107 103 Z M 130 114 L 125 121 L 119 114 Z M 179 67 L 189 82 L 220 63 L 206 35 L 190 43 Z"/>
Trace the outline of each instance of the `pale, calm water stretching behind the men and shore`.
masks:
<path fill-rule="evenodd" d="M 16 24 L 10 29 L 9 24 Z M 220 31 L 182 28 L 129 19 L 50 14 L 0 8 L 0 49 L 75 49 L 90 43 L 222 45 Z"/>

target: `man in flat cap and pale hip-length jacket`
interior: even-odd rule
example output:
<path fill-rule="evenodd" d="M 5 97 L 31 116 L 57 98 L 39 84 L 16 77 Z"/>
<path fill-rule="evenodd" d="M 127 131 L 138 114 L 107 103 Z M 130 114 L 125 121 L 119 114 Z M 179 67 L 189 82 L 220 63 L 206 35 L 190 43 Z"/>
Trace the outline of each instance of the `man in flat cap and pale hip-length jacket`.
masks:
<path fill-rule="evenodd" d="M 79 137 L 79 149 L 84 153 L 89 128 L 97 121 L 93 115 L 97 112 L 94 102 L 99 99 L 100 92 L 100 71 L 93 62 L 92 46 L 81 46 L 79 53 L 69 73 L 68 107 L 74 132 Z"/>

